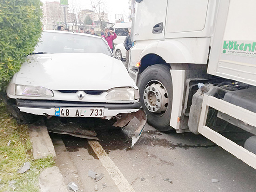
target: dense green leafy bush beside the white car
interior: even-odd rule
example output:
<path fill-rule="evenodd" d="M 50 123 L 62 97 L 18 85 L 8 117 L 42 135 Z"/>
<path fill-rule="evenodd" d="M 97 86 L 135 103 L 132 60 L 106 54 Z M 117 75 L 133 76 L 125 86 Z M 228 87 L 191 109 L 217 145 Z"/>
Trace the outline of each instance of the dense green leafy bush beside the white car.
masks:
<path fill-rule="evenodd" d="M 0 0 L 0 90 L 20 70 L 42 32 L 40 0 Z"/>

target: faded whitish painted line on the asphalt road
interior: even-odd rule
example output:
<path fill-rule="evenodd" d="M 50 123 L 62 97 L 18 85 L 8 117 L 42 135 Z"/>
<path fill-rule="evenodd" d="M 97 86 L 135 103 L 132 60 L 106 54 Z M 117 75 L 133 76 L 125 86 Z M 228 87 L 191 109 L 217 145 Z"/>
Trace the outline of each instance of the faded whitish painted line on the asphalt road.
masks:
<path fill-rule="evenodd" d="M 119 190 L 121 192 L 135 192 L 133 187 L 129 184 L 129 182 L 125 179 L 121 171 L 118 169 L 118 167 L 115 165 L 115 163 L 108 157 L 108 154 L 105 152 L 105 150 L 102 148 L 100 143 L 98 141 L 90 141 L 88 140 L 89 145 L 94 150 L 95 154 L 100 159 L 102 165 L 105 167 L 105 169 L 108 171 L 110 177 L 114 180 L 115 184 L 118 186 Z M 116 172 L 119 175 L 116 174 Z"/>

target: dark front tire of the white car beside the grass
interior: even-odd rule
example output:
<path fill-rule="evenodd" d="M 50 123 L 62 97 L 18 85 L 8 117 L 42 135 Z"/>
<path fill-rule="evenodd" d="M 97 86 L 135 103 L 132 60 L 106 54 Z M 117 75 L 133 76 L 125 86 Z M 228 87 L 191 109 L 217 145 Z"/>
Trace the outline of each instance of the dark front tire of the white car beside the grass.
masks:
<path fill-rule="evenodd" d="M 7 112 L 16 119 L 18 124 L 31 124 L 38 120 L 37 115 L 21 112 L 16 106 L 16 100 L 8 98 L 6 93 L 0 93 L 0 97 L 6 105 Z"/>

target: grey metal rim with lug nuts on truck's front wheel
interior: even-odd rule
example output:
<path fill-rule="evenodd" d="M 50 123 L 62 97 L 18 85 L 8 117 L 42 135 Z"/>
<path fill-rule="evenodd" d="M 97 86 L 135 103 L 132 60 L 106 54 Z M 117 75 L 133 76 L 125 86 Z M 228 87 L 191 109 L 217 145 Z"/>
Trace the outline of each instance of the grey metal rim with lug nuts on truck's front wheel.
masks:
<path fill-rule="evenodd" d="M 144 89 L 143 101 L 148 111 L 159 115 L 164 114 L 168 106 L 166 88 L 158 81 L 149 82 Z"/>

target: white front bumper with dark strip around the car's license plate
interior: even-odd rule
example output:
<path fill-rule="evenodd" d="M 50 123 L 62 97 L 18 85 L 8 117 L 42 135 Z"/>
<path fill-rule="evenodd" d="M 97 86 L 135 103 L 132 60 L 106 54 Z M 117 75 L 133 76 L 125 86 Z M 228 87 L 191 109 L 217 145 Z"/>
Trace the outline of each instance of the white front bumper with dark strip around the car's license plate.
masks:
<path fill-rule="evenodd" d="M 65 101 L 37 101 L 27 99 L 17 99 L 17 107 L 21 112 L 31 113 L 34 115 L 55 116 L 55 107 L 65 108 L 95 108 L 104 107 L 104 119 L 111 119 L 120 113 L 137 112 L 141 104 L 136 103 L 91 103 L 91 102 L 65 102 Z"/>

